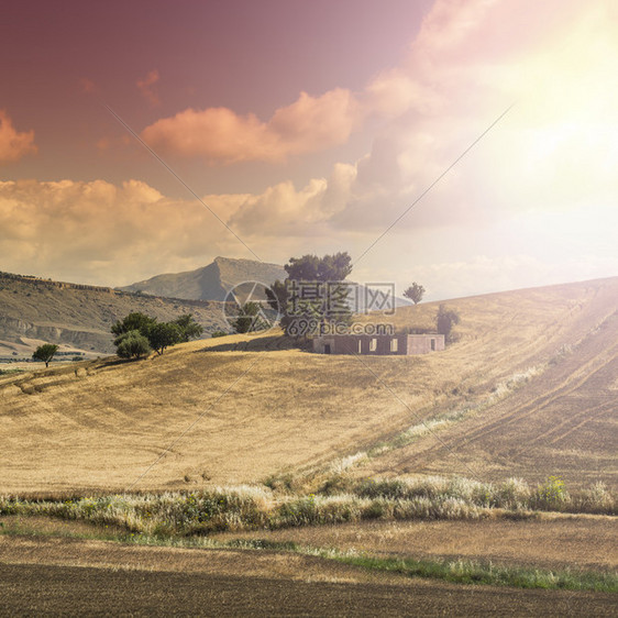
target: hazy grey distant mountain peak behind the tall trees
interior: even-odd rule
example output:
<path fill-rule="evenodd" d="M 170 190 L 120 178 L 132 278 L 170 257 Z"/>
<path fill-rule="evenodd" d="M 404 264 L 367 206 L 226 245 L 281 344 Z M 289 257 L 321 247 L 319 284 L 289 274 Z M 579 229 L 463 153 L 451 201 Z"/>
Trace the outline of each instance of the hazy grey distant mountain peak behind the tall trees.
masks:
<path fill-rule="evenodd" d="M 269 286 L 276 279 L 283 280 L 286 277 L 287 273 L 277 264 L 217 257 L 212 264 L 196 271 L 157 275 L 118 289 L 168 298 L 224 300 L 231 288 L 244 282 L 258 282 Z"/>

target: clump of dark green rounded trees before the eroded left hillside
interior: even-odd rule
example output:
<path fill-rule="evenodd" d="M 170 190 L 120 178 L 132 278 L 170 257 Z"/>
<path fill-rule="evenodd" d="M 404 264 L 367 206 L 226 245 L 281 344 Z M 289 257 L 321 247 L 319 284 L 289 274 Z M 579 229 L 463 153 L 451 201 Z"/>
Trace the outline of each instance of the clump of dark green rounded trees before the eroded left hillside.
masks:
<path fill-rule="evenodd" d="M 111 332 L 115 335 L 115 353 L 121 358 L 140 358 L 153 350 L 163 354 L 170 345 L 196 339 L 201 335 L 203 328 L 194 320 L 191 313 L 172 322 L 159 322 L 136 311 L 117 321 Z"/>

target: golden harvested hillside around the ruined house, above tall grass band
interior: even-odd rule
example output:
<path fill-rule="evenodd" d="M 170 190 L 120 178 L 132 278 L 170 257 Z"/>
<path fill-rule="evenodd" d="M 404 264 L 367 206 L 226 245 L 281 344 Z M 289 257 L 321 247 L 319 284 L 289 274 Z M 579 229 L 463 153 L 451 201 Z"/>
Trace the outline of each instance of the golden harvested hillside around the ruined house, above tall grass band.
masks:
<path fill-rule="evenodd" d="M 456 299 L 459 342 L 424 356 L 324 356 L 234 335 L 0 378 L 0 490 L 319 470 L 616 487 L 617 299 L 618 278 Z M 395 319 L 417 325 L 437 309 Z"/>

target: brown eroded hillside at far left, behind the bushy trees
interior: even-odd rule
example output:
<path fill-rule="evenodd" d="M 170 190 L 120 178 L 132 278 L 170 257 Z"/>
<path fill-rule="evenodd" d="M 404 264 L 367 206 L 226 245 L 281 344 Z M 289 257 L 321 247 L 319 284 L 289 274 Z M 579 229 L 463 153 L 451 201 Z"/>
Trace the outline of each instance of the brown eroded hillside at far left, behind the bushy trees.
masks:
<path fill-rule="evenodd" d="M 112 353 L 110 327 L 132 311 L 159 320 L 192 313 L 207 331 L 225 325 L 220 302 L 146 297 L 0 273 L 0 358 L 30 357 L 41 341 Z"/>

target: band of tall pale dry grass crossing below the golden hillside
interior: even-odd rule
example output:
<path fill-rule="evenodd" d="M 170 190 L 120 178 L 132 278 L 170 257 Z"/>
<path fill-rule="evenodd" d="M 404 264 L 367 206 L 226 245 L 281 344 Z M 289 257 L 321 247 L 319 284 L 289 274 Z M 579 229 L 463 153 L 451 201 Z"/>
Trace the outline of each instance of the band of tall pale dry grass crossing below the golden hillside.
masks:
<path fill-rule="evenodd" d="M 490 484 L 444 477 L 339 477 L 321 493 L 309 495 L 244 485 L 64 500 L 0 497 L 0 516 L 55 517 L 162 538 L 372 519 L 521 519 L 534 517 L 534 511 L 616 515 L 617 500 L 602 484 L 571 495 L 558 477 L 549 477 L 536 488 L 519 479 Z"/>

